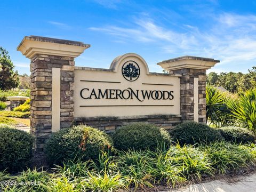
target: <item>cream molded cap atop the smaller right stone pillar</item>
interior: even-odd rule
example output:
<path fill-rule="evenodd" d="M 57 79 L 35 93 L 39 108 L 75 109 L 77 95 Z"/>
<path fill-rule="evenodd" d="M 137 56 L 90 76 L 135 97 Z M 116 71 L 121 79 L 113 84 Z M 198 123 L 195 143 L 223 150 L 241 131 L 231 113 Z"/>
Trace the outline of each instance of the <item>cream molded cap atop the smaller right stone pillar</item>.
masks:
<path fill-rule="evenodd" d="M 164 70 L 177 70 L 177 69 L 210 69 L 219 60 L 211 58 L 194 57 L 194 56 L 182 56 L 174 59 L 164 60 L 158 62 L 157 65 L 161 66 Z"/>

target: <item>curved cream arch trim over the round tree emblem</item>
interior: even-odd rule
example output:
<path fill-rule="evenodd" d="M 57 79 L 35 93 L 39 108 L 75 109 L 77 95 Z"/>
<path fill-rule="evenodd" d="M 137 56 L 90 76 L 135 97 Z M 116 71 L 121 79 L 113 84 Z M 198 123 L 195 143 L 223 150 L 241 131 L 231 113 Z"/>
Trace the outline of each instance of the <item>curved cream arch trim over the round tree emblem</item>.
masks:
<path fill-rule="evenodd" d="M 148 64 L 147 64 L 147 62 L 146 62 L 140 55 L 138 55 L 138 54 L 136 54 L 136 53 L 126 53 L 126 54 L 123 54 L 123 55 L 120 55 L 120 56 L 116 57 L 116 58 L 112 61 L 112 63 L 111 63 L 111 65 L 110 65 L 109 69 L 116 72 L 118 66 L 119 66 L 124 60 L 134 60 L 134 58 L 135 58 L 135 59 L 138 59 L 138 60 L 145 66 L 145 68 L 146 68 L 146 74 L 149 75 L 149 69 L 148 69 Z"/>

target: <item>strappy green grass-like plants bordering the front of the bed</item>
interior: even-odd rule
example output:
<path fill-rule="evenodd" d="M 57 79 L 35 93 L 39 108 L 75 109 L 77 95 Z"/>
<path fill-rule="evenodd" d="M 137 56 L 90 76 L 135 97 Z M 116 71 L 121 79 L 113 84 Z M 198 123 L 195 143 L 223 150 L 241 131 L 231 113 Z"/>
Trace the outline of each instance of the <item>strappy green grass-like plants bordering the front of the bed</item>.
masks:
<path fill-rule="evenodd" d="M 3 191 L 119 191 L 174 187 L 217 174 L 235 173 L 256 163 L 256 147 L 230 142 L 208 145 L 165 146 L 155 151 L 119 151 L 117 156 L 102 153 L 98 161 L 67 161 L 49 173 L 23 171 L 12 176 L 0 172 L 9 181 L 41 181 L 40 186 L 2 186 Z M 0 189 L 1 190 L 1 189 Z"/>

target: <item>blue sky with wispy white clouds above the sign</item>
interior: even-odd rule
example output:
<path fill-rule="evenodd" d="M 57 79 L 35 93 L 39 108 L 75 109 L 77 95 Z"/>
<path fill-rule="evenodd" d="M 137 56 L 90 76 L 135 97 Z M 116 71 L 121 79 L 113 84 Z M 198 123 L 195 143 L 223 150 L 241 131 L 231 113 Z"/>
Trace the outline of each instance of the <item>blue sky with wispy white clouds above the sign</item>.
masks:
<path fill-rule="evenodd" d="M 90 44 L 76 66 L 109 68 L 133 52 L 151 72 L 162 71 L 157 62 L 193 55 L 221 61 L 207 73 L 247 73 L 256 66 L 256 1 L 1 0 L 0 46 L 19 74 L 30 74 L 17 51 L 29 35 Z"/>

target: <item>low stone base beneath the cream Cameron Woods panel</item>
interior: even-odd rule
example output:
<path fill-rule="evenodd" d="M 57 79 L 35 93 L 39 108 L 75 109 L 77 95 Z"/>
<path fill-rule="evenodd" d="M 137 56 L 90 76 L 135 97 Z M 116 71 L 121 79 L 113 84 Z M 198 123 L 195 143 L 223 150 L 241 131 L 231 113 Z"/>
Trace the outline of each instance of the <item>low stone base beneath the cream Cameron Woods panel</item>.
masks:
<path fill-rule="evenodd" d="M 120 117 L 76 117 L 75 124 L 84 124 L 95 127 L 106 133 L 113 133 L 123 125 L 132 123 L 146 123 L 172 129 L 181 123 L 180 115 L 147 115 L 147 116 L 120 116 Z"/>

